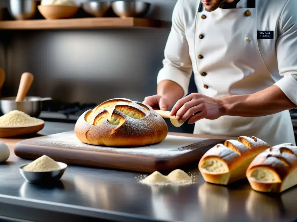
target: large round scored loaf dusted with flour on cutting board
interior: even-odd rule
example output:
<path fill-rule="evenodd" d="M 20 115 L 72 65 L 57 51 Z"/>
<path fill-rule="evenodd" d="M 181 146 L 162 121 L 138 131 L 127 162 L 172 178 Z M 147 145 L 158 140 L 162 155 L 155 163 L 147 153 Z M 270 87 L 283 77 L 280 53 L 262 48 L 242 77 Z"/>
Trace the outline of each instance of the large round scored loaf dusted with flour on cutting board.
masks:
<path fill-rule="evenodd" d="M 86 144 L 139 147 L 161 142 L 167 136 L 168 127 L 151 107 L 118 98 L 84 112 L 74 131 Z"/>

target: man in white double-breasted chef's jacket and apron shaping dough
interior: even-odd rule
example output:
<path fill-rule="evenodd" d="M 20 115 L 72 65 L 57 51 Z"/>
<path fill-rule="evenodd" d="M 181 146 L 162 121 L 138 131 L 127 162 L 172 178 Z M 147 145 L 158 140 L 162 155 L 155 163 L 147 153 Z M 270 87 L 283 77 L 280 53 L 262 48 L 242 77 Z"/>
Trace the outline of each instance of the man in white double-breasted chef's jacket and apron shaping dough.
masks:
<path fill-rule="evenodd" d="M 295 144 L 296 0 L 178 0 L 157 95 L 194 133 Z M 188 96 L 192 75 L 198 93 Z M 182 98 L 183 97 L 183 98 Z"/>

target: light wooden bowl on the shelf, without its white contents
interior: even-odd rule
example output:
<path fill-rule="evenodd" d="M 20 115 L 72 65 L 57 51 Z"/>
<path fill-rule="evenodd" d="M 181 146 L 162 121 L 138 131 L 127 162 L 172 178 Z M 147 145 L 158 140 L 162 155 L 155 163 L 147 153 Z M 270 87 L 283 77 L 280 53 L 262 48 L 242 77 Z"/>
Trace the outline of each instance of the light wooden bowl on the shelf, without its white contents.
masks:
<path fill-rule="evenodd" d="M 40 14 L 46 19 L 72 18 L 78 12 L 79 7 L 68 5 L 39 5 Z"/>

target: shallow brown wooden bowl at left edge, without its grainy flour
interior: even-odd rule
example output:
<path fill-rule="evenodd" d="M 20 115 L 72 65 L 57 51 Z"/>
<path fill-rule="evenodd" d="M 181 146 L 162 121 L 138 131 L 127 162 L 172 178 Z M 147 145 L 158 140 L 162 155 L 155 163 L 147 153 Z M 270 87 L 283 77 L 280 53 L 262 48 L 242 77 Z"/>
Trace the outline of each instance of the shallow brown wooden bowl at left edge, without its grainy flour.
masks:
<path fill-rule="evenodd" d="M 44 127 L 44 121 L 30 126 L 1 126 L 0 138 L 10 138 L 37 133 Z"/>

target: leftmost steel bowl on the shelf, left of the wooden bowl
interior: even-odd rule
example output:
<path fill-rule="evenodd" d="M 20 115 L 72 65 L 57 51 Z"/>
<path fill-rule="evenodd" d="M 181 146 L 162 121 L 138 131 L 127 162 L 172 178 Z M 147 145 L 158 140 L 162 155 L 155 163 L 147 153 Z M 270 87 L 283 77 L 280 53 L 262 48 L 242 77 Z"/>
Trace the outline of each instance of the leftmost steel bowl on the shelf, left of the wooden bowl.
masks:
<path fill-rule="evenodd" d="M 30 19 L 37 12 L 36 0 L 9 0 L 9 14 L 17 20 Z"/>

